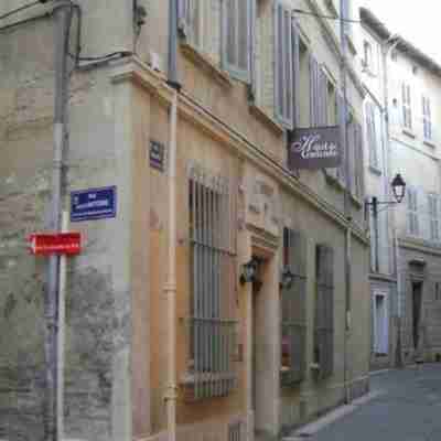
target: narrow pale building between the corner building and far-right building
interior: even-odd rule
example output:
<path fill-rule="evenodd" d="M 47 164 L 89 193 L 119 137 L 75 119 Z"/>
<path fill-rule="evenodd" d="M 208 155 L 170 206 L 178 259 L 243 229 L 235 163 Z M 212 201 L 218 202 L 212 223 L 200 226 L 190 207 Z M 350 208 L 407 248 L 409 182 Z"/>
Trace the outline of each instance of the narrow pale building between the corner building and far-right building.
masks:
<path fill-rule="evenodd" d="M 397 348 L 397 277 L 395 266 L 394 201 L 390 183 L 390 148 L 387 119 L 386 58 L 394 41 L 388 41 L 372 26 L 370 12 L 361 9 L 361 32 L 356 34 L 358 68 L 366 88 L 364 104 L 366 215 L 370 234 L 370 368 L 396 365 Z M 376 197 L 377 215 L 373 198 Z"/>

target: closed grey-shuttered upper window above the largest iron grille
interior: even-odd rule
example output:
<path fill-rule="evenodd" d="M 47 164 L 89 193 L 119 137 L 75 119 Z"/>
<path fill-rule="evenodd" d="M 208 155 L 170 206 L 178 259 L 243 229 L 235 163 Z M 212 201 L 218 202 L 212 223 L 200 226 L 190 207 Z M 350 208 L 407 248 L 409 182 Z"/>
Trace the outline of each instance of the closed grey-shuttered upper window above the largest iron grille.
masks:
<path fill-rule="evenodd" d="M 245 83 L 251 79 L 252 1 L 225 0 L 224 2 L 224 49 L 226 71 Z"/>

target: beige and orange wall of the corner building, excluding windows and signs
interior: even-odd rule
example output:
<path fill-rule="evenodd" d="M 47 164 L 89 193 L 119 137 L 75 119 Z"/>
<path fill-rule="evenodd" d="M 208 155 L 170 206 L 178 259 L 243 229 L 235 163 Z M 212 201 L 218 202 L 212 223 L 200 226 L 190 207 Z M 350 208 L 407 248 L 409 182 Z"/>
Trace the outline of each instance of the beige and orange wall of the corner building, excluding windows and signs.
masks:
<path fill-rule="evenodd" d="M 116 219 L 71 225 L 84 237 L 84 251 L 69 259 L 66 332 L 66 435 L 129 440 L 162 439 L 168 430 L 165 388 L 168 346 L 164 283 L 168 246 L 168 168 L 149 166 L 150 142 L 168 150 L 172 90 L 165 84 L 166 2 L 140 1 L 148 22 L 138 40 L 131 4 L 82 1 L 84 55 L 131 50 L 137 55 L 82 68 L 73 75 L 69 101 L 67 192 L 117 185 Z M 269 2 L 268 2 L 269 3 Z M 313 8 L 314 2 L 291 2 Z M 214 3 L 213 3 L 214 4 Z M 13 4 L 15 6 L 15 3 Z M 4 4 L 4 11 L 12 2 Z M 0 7 L 0 12 L 3 10 Z M 9 9 L 8 9 L 9 8 Z M 42 11 L 43 8 L 40 8 Z M 212 12 L 219 13 L 214 8 Z M 32 12 L 30 12 L 32 13 Z M 338 83 L 336 54 L 323 39 L 323 23 L 302 19 L 311 51 Z M 266 30 L 271 35 L 271 30 Z M 37 37 L 35 36 L 37 35 Z M 363 232 L 363 203 L 354 200 L 352 235 L 352 316 L 345 343 L 345 235 L 343 191 L 330 185 L 324 173 L 286 168 L 287 132 L 272 115 L 249 103 L 249 89 L 220 68 L 216 29 L 208 55 L 183 43 L 179 49 L 182 92 L 178 126 L 178 433 L 179 439 L 203 437 L 226 440 L 230 424 L 240 422 L 244 438 L 252 440 L 255 426 L 275 438 L 287 428 L 314 418 L 368 387 L 369 299 L 368 252 Z M 0 31 L 0 286 L 1 321 L 0 431 L 11 440 L 43 440 L 43 289 L 45 262 L 31 257 L 23 238 L 44 228 L 50 200 L 53 119 L 52 21 Z M 160 56 L 157 65 L 155 55 Z M 216 55 L 217 54 L 217 55 Z M 149 63 L 149 64 L 147 64 Z M 152 67 L 158 67 L 153 69 Z M 362 117 L 363 96 L 348 82 L 352 111 Z M 270 95 L 267 92 L 268 96 Z M 268 98 L 269 101 L 271 100 Z M 266 108 L 268 110 L 270 104 Z M 265 108 L 263 108 L 265 110 Z M 305 108 L 301 112 L 306 114 Z M 305 118 L 305 123 L 309 119 Z M 182 378 L 187 370 L 189 206 L 187 170 L 201 163 L 229 176 L 238 195 L 236 304 L 237 388 L 230 395 L 189 402 Z M 256 192 L 262 182 L 268 194 Z M 65 204 L 67 206 L 68 198 Z M 256 211 L 256 204 L 258 209 Z M 280 389 L 279 270 L 281 230 L 292 226 L 308 237 L 306 379 L 300 387 Z M 315 246 L 334 248 L 334 375 L 313 379 Z M 259 373 L 263 388 L 252 408 L 252 293 L 240 286 L 241 265 L 252 254 L 266 259 L 263 301 L 258 319 L 259 347 L 267 366 Z M 24 293 L 24 294 L 23 294 Z M 24 324 L 24 325 L 23 325 Z M 41 330 L 35 332 L 35 330 Z M 11 346 L 10 342 L 17 341 Z M 363 348 L 363 351 L 361 349 Z"/>

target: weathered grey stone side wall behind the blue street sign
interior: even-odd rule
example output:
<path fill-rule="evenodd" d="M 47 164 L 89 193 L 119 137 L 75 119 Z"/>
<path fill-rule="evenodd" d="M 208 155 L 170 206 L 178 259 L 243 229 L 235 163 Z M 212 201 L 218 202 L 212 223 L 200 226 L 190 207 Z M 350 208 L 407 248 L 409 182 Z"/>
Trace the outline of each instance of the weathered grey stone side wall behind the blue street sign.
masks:
<path fill-rule="evenodd" d="M 18 3 L 4 1 L 0 12 Z M 123 17 L 131 14 L 130 9 L 117 1 L 79 3 L 84 12 L 83 55 L 128 47 L 131 19 Z M 26 10 L 2 25 L 49 8 Z M 46 261 L 30 255 L 25 237 L 44 230 L 49 214 L 53 32 L 52 19 L 0 31 L 0 302 L 6 311 L 0 322 L 0 377 L 4 385 L 0 432 L 10 440 L 44 439 Z M 132 213 L 137 173 L 131 162 L 133 142 L 127 131 L 129 116 L 130 92 L 114 87 L 107 68 L 73 75 L 66 191 L 117 185 L 118 216 L 71 225 L 82 233 L 84 245 L 82 255 L 69 259 L 67 268 L 65 432 L 71 438 L 131 438 L 130 335 L 136 324 L 131 315 L 136 292 L 131 255 L 138 247 L 130 241 L 132 232 L 138 230 L 133 219 L 140 214 Z M 63 204 L 67 206 L 68 200 Z M 140 233 L 139 238 L 143 236 Z M 142 252 L 138 256 L 144 257 Z M 141 370 L 142 364 L 139 367 Z M 146 386 L 139 387 L 141 395 Z M 148 421 L 149 412 L 142 417 Z"/>

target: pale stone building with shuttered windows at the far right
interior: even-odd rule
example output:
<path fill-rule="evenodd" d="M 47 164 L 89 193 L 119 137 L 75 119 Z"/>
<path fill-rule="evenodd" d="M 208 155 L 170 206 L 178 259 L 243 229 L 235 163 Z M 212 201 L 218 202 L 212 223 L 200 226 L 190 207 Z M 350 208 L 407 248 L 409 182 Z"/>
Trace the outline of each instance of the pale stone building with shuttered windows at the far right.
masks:
<path fill-rule="evenodd" d="M 397 318 L 401 359 L 441 358 L 440 315 L 440 65 L 364 12 L 388 46 L 387 106 L 390 175 L 401 173 L 407 196 L 395 208 L 398 237 Z"/>

